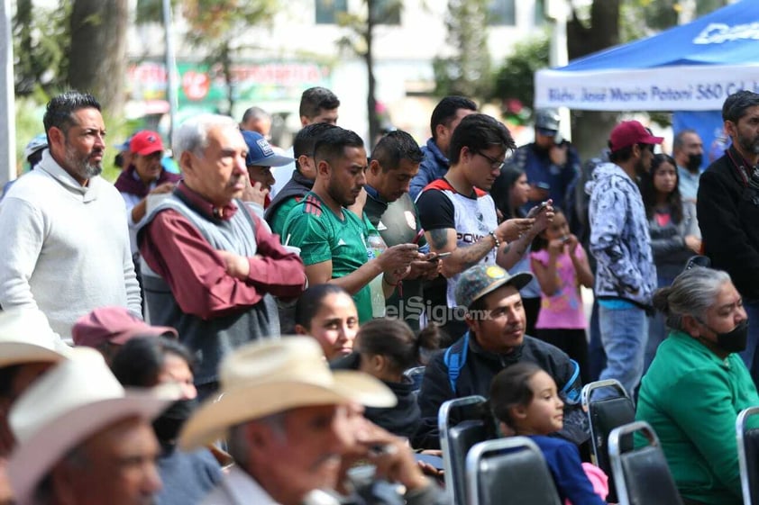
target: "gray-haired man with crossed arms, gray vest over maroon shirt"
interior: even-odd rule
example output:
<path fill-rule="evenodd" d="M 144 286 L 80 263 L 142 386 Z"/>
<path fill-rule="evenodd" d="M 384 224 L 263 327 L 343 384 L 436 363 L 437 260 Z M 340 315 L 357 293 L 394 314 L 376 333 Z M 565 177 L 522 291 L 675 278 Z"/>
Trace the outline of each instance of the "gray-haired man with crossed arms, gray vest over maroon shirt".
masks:
<path fill-rule="evenodd" d="M 279 337 L 272 296 L 297 297 L 306 274 L 240 200 L 250 186 L 248 147 L 232 118 L 187 120 L 173 148 L 184 179 L 138 234 L 145 298 L 151 323 L 176 328 L 196 353 L 196 385 L 205 396 L 215 391 L 227 352 Z"/>

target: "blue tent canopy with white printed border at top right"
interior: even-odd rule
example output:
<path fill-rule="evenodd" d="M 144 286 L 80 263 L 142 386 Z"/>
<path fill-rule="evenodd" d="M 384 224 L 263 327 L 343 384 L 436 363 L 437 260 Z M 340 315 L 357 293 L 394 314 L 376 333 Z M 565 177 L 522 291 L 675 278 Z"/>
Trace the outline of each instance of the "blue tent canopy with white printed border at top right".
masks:
<path fill-rule="evenodd" d="M 640 41 L 535 73 L 535 106 L 596 111 L 718 110 L 759 92 L 759 1 L 741 0 Z"/>

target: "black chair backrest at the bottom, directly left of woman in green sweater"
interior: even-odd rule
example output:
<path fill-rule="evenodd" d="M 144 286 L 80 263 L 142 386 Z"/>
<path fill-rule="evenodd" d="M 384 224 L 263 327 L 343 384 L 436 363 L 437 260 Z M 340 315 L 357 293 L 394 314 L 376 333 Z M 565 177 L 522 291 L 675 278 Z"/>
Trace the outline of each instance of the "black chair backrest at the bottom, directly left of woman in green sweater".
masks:
<path fill-rule="evenodd" d="M 625 450 L 621 440 L 632 439 L 636 431 L 648 439 L 649 445 Z M 620 505 L 682 505 L 659 438 L 647 422 L 636 421 L 612 429 L 608 455 Z"/>

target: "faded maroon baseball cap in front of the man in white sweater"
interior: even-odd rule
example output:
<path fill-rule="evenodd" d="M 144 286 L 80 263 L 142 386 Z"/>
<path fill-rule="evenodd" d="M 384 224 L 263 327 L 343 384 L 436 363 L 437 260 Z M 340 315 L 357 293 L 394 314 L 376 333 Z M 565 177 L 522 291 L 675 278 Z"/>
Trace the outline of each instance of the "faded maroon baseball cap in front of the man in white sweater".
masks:
<path fill-rule="evenodd" d="M 137 336 L 178 338 L 178 332 L 169 326 L 151 326 L 124 307 L 99 307 L 80 317 L 71 329 L 77 346 L 123 345 Z"/>

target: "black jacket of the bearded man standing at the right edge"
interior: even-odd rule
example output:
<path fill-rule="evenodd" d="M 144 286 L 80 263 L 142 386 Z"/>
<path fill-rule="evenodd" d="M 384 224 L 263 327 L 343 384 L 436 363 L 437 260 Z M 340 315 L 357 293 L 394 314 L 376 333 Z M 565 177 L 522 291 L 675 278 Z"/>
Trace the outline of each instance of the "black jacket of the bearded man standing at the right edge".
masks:
<path fill-rule="evenodd" d="M 759 191 L 741 176 L 743 162 L 731 146 L 709 165 L 699 181 L 696 209 L 711 266 L 725 270 L 745 298 L 759 300 Z"/>

